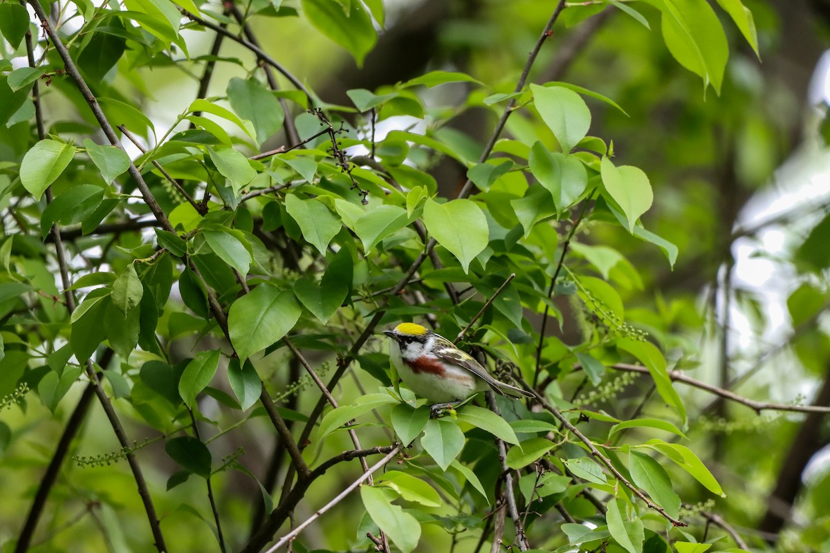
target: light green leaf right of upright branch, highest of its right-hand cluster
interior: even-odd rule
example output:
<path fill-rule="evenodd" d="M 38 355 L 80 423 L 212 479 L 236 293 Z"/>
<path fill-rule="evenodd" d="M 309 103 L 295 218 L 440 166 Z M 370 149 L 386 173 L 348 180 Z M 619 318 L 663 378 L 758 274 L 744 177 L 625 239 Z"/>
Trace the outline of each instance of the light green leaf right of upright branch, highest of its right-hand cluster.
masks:
<path fill-rule="evenodd" d="M 588 106 L 573 90 L 561 86 L 530 85 L 536 109 L 553 131 L 564 153 L 582 140 L 591 126 Z"/>

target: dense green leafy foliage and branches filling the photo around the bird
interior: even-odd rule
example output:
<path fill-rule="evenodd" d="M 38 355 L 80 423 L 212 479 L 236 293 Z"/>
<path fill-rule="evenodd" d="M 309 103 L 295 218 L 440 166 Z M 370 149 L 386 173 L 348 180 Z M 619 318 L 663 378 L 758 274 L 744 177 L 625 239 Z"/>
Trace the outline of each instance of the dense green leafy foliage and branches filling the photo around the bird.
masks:
<path fill-rule="evenodd" d="M 816 434 L 830 398 L 728 389 L 774 11 L 412 3 L 0 4 L 4 551 L 777 540 L 747 453 L 801 419 L 725 400 Z M 788 261 L 803 379 L 826 227 Z M 409 320 L 534 399 L 431 418 L 378 336 Z M 830 539 L 823 487 L 784 549 Z"/>

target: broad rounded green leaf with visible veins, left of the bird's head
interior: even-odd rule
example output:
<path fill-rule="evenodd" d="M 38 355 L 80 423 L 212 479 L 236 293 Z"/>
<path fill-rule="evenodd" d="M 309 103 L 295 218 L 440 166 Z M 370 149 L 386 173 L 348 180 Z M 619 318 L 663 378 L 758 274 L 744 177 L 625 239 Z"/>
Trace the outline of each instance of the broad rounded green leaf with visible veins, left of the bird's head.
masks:
<path fill-rule="evenodd" d="M 297 320 L 302 309 L 291 290 L 260 284 L 237 299 L 227 315 L 231 343 L 240 361 L 278 342 Z"/>

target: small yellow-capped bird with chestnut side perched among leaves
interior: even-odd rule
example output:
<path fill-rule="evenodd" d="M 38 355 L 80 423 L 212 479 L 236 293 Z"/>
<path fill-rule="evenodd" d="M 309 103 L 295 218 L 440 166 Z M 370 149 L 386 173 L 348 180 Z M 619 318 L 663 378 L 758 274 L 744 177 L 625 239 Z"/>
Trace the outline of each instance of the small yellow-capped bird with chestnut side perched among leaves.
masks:
<path fill-rule="evenodd" d="M 427 400 L 450 405 L 488 387 L 502 395 L 533 397 L 525 390 L 497 381 L 470 354 L 419 324 L 401 323 L 383 333 L 392 338 L 389 357 L 398 376 L 410 390 Z"/>

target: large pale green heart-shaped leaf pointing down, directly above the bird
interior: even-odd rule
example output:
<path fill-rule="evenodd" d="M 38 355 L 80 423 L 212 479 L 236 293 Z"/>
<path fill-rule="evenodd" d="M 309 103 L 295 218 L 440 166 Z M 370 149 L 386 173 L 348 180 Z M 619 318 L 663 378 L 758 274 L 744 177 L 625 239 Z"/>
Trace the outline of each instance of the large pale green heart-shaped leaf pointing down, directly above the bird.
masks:
<path fill-rule="evenodd" d="M 471 200 L 452 200 L 440 204 L 427 199 L 423 206 L 423 223 L 429 233 L 444 246 L 468 272 L 470 262 L 487 247 L 490 230 L 481 207 Z"/>

